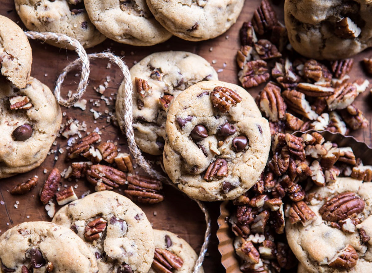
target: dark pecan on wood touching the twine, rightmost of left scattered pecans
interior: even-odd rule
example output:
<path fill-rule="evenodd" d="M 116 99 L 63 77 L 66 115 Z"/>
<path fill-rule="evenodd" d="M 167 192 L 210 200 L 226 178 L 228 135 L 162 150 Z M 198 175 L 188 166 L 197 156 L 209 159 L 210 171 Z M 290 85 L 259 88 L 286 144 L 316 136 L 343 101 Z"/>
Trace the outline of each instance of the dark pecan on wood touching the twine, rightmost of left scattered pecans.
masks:
<path fill-rule="evenodd" d="M 156 204 L 164 200 L 160 190 L 163 188 L 161 181 L 142 175 L 128 176 L 128 189 L 125 196 L 132 201 L 145 204 Z"/>

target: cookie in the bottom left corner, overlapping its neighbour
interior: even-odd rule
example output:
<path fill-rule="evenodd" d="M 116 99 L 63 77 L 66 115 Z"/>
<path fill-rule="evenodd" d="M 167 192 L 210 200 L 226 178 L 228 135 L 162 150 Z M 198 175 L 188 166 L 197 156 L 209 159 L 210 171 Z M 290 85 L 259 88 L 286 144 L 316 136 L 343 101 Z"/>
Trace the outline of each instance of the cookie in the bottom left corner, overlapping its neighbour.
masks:
<path fill-rule="evenodd" d="M 92 252 L 70 229 L 25 222 L 0 237 L 0 272 L 97 273 Z"/>

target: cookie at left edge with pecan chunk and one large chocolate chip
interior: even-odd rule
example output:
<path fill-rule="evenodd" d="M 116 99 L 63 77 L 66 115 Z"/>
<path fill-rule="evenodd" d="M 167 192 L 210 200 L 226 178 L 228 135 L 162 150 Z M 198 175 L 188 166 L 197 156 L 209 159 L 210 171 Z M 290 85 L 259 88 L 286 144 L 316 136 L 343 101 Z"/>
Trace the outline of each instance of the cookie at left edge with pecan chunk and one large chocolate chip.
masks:
<path fill-rule="evenodd" d="M 50 89 L 30 78 L 23 89 L 0 82 L 0 178 L 38 167 L 47 157 L 62 121 Z"/>

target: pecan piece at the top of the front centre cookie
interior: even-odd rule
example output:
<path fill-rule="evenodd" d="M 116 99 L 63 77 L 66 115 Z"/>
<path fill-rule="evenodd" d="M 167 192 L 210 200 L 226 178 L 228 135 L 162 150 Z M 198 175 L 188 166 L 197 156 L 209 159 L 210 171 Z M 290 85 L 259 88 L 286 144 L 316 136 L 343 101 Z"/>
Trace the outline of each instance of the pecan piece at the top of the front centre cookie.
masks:
<path fill-rule="evenodd" d="M 216 86 L 211 92 L 210 96 L 213 107 L 217 108 L 222 113 L 228 112 L 231 106 L 240 103 L 242 100 L 237 92 L 221 86 Z"/>

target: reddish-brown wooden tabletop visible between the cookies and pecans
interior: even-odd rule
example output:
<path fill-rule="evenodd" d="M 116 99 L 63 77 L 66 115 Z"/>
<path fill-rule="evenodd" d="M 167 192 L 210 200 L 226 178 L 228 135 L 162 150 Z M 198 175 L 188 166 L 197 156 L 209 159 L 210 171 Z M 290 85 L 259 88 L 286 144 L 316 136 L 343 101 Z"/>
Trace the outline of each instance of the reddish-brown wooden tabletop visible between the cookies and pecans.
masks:
<path fill-rule="evenodd" d="M 238 84 L 237 79 L 237 66 L 235 65 L 235 54 L 238 48 L 240 48 L 240 41 L 238 38 L 239 29 L 244 21 L 250 21 L 254 9 L 259 5 L 259 0 L 246 1 L 244 4 L 243 11 L 235 25 L 231 27 L 229 31 L 212 40 L 202 42 L 189 42 L 184 41 L 176 37 L 172 37 L 169 41 L 154 45 L 152 47 L 134 47 L 125 44 L 119 44 L 112 40 L 106 40 L 100 45 L 91 48 L 88 53 L 101 52 L 103 50 L 111 50 L 113 53 L 119 56 L 125 56 L 124 60 L 129 67 L 133 65 L 135 61 L 141 60 L 143 57 L 150 53 L 157 51 L 166 50 L 185 50 L 192 53 L 199 54 L 204 57 L 210 63 L 212 60 L 216 62 L 213 64 L 216 70 L 223 69 L 222 72 L 218 73 L 219 79 L 222 81 L 232 82 Z M 280 21 L 283 22 L 282 5 L 275 6 L 278 12 Z M 14 3 L 12 0 L 0 0 L 0 14 L 5 15 L 13 21 L 19 23 L 19 25 L 25 29 L 23 23 L 20 21 L 15 11 Z M 38 78 L 40 81 L 48 85 L 51 90 L 54 89 L 54 83 L 59 75 L 60 71 L 76 58 L 76 54 L 65 49 L 59 49 L 52 47 L 47 44 L 42 44 L 39 41 L 31 41 L 32 53 L 33 53 L 33 64 L 31 75 Z M 365 56 L 372 55 L 372 50 L 365 51 L 355 57 L 355 65 L 349 75 L 352 78 L 366 77 L 362 70 L 360 60 Z M 78 119 L 80 122 L 85 121 L 88 125 L 89 130 L 93 130 L 98 127 L 102 130 L 102 139 L 104 141 L 111 139 L 118 142 L 118 146 L 122 151 L 126 150 L 126 139 L 121 134 L 118 127 L 113 126 L 112 123 L 106 122 L 107 114 L 104 113 L 105 109 L 110 112 L 113 111 L 115 93 L 119 84 L 122 81 L 122 75 L 119 69 L 114 65 L 110 69 L 106 69 L 107 61 L 94 61 L 91 63 L 92 72 L 90 75 L 90 84 L 87 89 L 84 98 L 88 100 L 87 110 L 82 111 L 78 108 L 71 107 L 69 109 L 62 107 L 62 112 L 66 112 L 66 116 L 63 118 L 63 122 L 66 121 L 67 117 L 73 117 Z M 224 63 L 226 65 L 224 65 Z M 226 67 L 224 67 L 226 66 Z M 78 72 L 78 71 L 76 71 Z M 68 90 L 74 90 L 78 78 L 74 77 L 76 72 L 70 73 L 70 77 L 65 81 L 64 94 L 67 94 Z M 106 76 L 110 76 L 112 81 L 109 83 L 109 88 L 105 91 L 106 97 L 112 97 L 110 105 L 106 106 L 104 101 L 100 100 L 101 95 L 93 90 L 93 87 L 103 84 Z M 250 90 L 253 96 L 256 96 L 260 88 Z M 96 120 L 94 123 L 93 114 L 89 112 L 89 108 L 92 103 L 89 100 L 98 100 L 101 103 L 100 107 L 93 107 L 94 110 L 102 112 L 102 117 Z M 369 92 L 360 95 L 356 104 L 359 106 L 368 116 L 371 122 L 371 95 Z M 371 128 L 365 129 L 364 131 L 354 132 L 353 135 L 359 140 L 365 141 L 367 144 L 372 144 Z M 2 179 L 0 182 L 0 201 L 4 201 L 4 205 L 0 205 L 0 230 L 3 233 L 8 228 L 17 225 L 18 223 L 25 221 L 36 221 L 36 220 L 50 220 L 44 206 L 39 200 L 38 192 L 44 183 L 48 173 L 53 167 L 63 170 L 68 166 L 65 162 L 65 155 L 58 154 L 58 149 L 63 148 L 65 150 L 67 140 L 65 138 L 58 138 L 58 144 L 52 146 L 53 150 L 57 150 L 56 154 L 51 154 L 47 157 L 40 167 L 32 170 L 31 172 L 13 176 L 12 178 Z M 54 160 L 55 156 L 58 155 L 58 160 Z M 47 173 L 44 173 L 44 169 Z M 20 182 L 26 181 L 33 175 L 39 176 L 39 184 L 36 189 L 29 192 L 26 195 L 15 196 L 9 193 L 10 189 L 14 185 Z M 62 185 L 78 185 L 76 193 L 81 196 L 83 192 L 94 189 L 84 180 L 78 180 L 73 182 L 62 181 Z M 140 207 L 145 211 L 150 222 L 153 223 L 154 228 L 167 229 L 175 232 L 182 236 L 188 241 L 192 247 L 199 251 L 203 242 L 203 234 L 205 231 L 205 222 L 203 214 L 199 210 L 195 202 L 191 201 L 185 195 L 179 191 L 173 189 L 170 186 L 165 186 L 165 200 L 156 205 L 142 205 Z M 18 207 L 15 207 L 16 202 L 19 201 Z M 224 268 L 221 266 L 220 259 L 221 255 L 218 253 L 217 245 L 218 240 L 215 236 L 217 231 L 216 219 L 219 215 L 219 202 L 208 203 L 209 212 L 212 217 L 212 236 L 211 243 L 209 245 L 208 254 L 205 259 L 204 269 L 207 273 L 212 272 L 223 272 Z M 0 233 L 0 235 L 1 235 Z"/>

